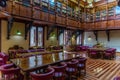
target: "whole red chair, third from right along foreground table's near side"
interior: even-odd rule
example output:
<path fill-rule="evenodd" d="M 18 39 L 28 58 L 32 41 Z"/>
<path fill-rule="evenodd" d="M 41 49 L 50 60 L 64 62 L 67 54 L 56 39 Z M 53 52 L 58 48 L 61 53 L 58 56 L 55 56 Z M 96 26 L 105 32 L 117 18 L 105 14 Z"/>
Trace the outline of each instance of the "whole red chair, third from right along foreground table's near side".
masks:
<path fill-rule="evenodd" d="M 59 63 L 57 66 L 52 66 L 55 69 L 54 80 L 65 80 L 66 63 Z"/>

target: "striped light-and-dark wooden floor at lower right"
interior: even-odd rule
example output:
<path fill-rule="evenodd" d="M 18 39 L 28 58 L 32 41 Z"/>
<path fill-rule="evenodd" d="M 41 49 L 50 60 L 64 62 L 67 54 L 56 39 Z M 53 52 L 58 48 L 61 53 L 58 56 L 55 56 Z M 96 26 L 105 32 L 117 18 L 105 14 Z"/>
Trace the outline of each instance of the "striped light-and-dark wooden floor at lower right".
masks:
<path fill-rule="evenodd" d="M 87 60 L 87 73 L 78 80 L 113 80 L 120 76 L 120 53 L 113 60 L 90 59 Z"/>

